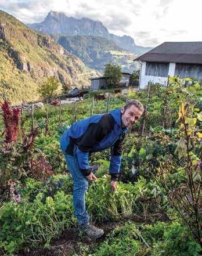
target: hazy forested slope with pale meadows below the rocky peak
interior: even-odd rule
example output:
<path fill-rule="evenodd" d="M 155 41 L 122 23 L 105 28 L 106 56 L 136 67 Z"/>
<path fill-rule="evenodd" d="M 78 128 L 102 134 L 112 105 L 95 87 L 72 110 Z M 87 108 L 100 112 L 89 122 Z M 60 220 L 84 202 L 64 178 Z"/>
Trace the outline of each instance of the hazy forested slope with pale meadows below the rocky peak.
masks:
<path fill-rule="evenodd" d="M 137 57 L 120 48 L 114 41 L 92 35 L 51 35 L 68 52 L 78 56 L 86 66 L 104 73 L 107 63 L 120 65 L 123 72 L 132 73 L 139 68 Z"/>

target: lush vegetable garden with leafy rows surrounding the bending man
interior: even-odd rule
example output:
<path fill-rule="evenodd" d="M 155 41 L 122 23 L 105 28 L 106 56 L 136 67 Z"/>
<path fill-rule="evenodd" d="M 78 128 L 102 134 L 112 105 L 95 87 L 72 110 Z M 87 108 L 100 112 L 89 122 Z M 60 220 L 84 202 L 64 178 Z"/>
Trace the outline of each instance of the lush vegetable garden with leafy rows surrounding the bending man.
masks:
<path fill-rule="evenodd" d="M 147 111 L 124 140 L 115 193 L 109 150 L 89 158 L 99 165 L 86 193 L 89 215 L 105 231 L 98 240 L 76 229 L 73 182 L 59 145 L 74 107 L 45 106 L 47 131 L 46 109 L 35 111 L 33 130 L 30 114 L 1 103 L 0 255 L 201 255 L 201 85 L 170 77 L 169 86 L 151 85 L 149 94 L 111 96 L 110 110 L 127 99 Z M 93 114 L 106 109 L 100 100 Z M 91 113 L 91 102 L 78 104 L 77 120 Z"/>

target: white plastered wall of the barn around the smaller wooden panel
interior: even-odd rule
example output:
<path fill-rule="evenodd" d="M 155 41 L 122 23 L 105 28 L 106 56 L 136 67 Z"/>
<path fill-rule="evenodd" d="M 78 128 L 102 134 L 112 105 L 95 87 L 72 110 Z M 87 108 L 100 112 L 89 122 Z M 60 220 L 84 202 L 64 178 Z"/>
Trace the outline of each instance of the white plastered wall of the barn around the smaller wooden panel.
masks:
<path fill-rule="evenodd" d="M 139 81 L 140 89 L 145 89 L 149 81 L 151 81 L 154 84 L 158 83 L 162 85 L 167 85 L 168 77 L 153 77 L 153 75 L 145 75 L 145 70 L 146 70 L 146 62 L 142 62 L 142 68 L 140 71 L 140 81 Z M 175 74 L 175 63 L 169 63 L 168 75 L 173 76 L 174 74 Z"/>

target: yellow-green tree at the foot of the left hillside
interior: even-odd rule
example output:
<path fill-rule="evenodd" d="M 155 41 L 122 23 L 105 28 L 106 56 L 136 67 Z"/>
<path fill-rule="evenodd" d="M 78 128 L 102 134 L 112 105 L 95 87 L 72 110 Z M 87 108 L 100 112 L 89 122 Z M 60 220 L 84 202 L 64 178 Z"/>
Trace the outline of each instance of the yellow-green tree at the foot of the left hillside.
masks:
<path fill-rule="evenodd" d="M 52 98 L 55 91 L 59 86 L 59 81 L 55 77 L 49 77 L 44 84 L 42 84 L 41 88 L 39 88 L 38 92 L 41 94 L 43 98 Z"/>

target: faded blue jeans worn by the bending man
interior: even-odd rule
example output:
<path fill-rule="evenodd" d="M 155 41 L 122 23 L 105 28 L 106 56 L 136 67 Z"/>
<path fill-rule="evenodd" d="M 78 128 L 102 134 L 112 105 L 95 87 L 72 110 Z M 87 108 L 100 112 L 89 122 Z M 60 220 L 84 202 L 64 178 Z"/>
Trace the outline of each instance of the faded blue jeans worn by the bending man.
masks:
<path fill-rule="evenodd" d="M 85 209 L 85 192 L 88 189 L 88 179 L 80 171 L 77 156 L 70 156 L 64 154 L 68 169 L 74 181 L 73 204 L 75 210 L 75 217 L 79 223 L 86 223 L 89 221 L 88 212 Z"/>

